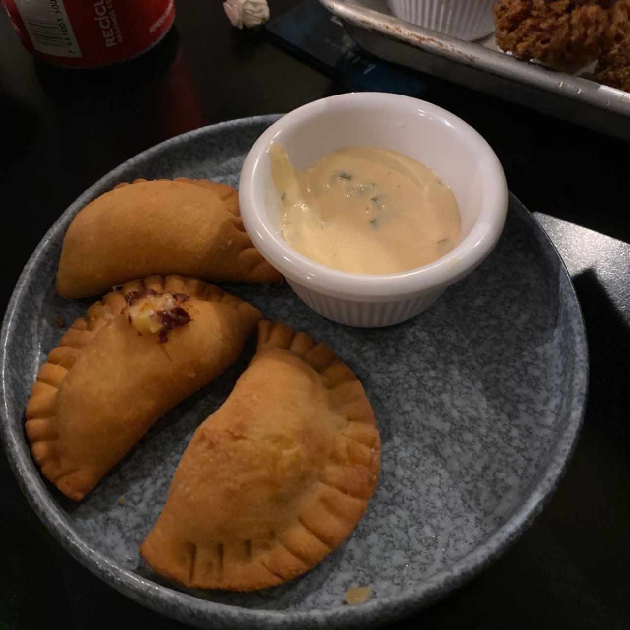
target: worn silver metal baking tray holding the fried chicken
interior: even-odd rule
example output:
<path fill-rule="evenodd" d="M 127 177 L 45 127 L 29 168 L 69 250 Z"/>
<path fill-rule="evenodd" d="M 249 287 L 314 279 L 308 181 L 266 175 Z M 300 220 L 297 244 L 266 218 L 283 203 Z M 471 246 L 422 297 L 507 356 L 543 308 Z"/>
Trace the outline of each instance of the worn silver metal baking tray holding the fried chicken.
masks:
<path fill-rule="evenodd" d="M 387 0 L 319 0 L 377 57 L 630 141 L 630 93 L 513 59 L 494 35 L 463 42 L 393 16 Z"/>

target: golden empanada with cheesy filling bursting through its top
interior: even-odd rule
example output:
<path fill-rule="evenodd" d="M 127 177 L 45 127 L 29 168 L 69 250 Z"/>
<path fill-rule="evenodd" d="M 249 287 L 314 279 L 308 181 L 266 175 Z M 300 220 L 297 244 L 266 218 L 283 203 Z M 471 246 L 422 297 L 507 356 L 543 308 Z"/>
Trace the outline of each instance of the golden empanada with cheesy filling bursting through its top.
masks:
<path fill-rule="evenodd" d="M 247 302 L 176 275 L 105 295 L 31 390 L 26 435 L 44 476 L 81 500 L 160 416 L 238 358 L 260 319 Z"/>

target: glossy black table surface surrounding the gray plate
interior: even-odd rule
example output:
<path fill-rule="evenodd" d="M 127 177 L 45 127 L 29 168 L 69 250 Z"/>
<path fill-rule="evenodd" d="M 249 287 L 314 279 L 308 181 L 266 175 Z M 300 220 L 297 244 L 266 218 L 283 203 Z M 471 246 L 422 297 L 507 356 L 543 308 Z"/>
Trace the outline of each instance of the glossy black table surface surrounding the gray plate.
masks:
<path fill-rule="evenodd" d="M 277 15 L 295 0 L 270 0 Z M 0 312 L 31 251 L 94 181 L 202 125 L 287 112 L 347 91 L 265 38 L 229 26 L 219 0 L 177 4 L 156 49 L 123 66 L 68 72 L 35 62 L 0 14 Z M 394 624 L 630 627 L 630 147 L 427 78 L 498 154 L 510 190 L 541 221 L 583 309 L 591 380 L 566 476 L 542 514 L 489 568 Z M 119 595 L 62 549 L 0 455 L 0 629 L 183 628 Z"/>

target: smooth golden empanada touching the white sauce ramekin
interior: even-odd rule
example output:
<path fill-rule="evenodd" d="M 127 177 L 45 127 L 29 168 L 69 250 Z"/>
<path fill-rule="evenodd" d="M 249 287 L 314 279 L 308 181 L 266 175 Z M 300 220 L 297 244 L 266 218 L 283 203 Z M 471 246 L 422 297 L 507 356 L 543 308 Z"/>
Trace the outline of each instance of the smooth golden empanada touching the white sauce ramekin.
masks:
<path fill-rule="evenodd" d="M 57 293 L 89 297 L 155 273 L 210 282 L 282 279 L 251 243 L 232 186 L 136 180 L 96 198 L 72 219 Z"/>

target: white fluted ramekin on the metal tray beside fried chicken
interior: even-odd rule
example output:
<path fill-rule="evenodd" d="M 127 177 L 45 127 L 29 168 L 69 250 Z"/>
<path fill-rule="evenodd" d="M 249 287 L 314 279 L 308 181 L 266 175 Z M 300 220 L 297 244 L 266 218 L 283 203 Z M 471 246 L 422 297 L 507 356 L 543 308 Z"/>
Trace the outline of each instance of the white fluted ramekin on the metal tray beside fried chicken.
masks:
<path fill-rule="evenodd" d="M 470 42 L 495 30 L 496 0 L 387 0 L 401 20 Z"/>

